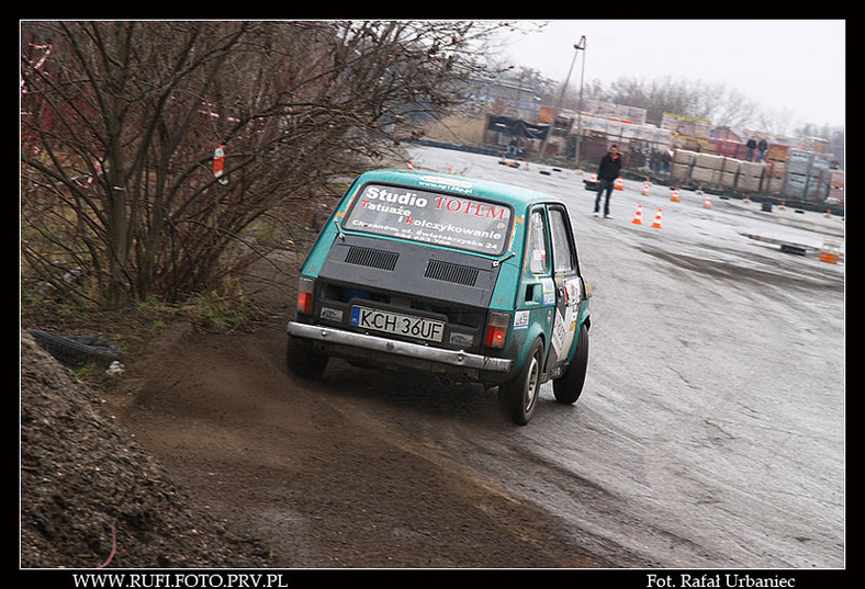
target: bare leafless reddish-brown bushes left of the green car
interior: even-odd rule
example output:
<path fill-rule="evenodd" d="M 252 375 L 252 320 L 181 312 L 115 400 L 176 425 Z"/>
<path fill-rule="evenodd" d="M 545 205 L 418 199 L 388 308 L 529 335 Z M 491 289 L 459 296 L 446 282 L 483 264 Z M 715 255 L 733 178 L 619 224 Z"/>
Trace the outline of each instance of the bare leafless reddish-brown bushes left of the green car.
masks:
<path fill-rule="evenodd" d="M 497 26 L 22 23 L 29 270 L 77 267 L 115 305 L 218 284 L 245 229 L 459 101 Z"/>

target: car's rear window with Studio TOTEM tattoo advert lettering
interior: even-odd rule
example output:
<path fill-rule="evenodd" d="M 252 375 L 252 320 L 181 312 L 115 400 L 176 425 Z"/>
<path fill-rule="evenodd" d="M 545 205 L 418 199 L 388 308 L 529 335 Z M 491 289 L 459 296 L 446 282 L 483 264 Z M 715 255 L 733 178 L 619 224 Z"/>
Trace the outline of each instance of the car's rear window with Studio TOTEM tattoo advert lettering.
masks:
<path fill-rule="evenodd" d="M 367 184 L 342 228 L 496 256 L 505 251 L 510 207 L 464 195 Z"/>

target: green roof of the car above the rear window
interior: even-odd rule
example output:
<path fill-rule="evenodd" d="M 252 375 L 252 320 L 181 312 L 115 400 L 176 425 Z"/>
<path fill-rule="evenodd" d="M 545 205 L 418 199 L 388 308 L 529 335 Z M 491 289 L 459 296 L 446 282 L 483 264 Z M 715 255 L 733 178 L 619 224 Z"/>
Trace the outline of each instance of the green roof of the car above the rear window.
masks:
<path fill-rule="evenodd" d="M 539 202 L 561 202 L 550 194 L 505 184 L 491 180 L 467 178 L 456 174 L 438 173 L 423 170 L 381 169 L 371 170 L 359 177 L 359 183 L 383 182 L 498 201 L 514 206 L 516 209 Z"/>

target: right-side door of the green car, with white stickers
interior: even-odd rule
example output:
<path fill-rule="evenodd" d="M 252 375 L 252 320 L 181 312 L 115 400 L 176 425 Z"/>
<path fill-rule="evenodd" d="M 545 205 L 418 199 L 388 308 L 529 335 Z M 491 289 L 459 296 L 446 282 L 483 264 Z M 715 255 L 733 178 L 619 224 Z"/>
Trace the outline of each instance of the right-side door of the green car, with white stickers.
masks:
<path fill-rule="evenodd" d="M 547 218 L 555 288 L 555 317 L 547 361 L 547 371 L 551 372 L 571 358 L 580 317 L 582 283 L 568 211 L 563 205 L 550 204 L 547 206 Z"/>

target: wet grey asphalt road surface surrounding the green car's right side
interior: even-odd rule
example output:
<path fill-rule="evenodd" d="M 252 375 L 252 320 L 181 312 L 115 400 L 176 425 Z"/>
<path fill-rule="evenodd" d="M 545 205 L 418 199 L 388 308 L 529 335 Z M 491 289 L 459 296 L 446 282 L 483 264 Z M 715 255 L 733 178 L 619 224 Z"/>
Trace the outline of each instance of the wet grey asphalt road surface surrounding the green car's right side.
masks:
<path fill-rule="evenodd" d="M 776 245 L 819 248 L 843 236 L 843 219 L 718 197 L 707 208 L 689 191 L 673 203 L 670 189 L 643 195 L 630 181 L 614 218 L 595 218 L 577 172 L 434 148 L 411 157 L 568 203 L 594 291 L 589 369 L 574 406 L 544 385 L 525 428 L 487 414 L 471 388 L 394 389 L 375 419 L 461 456 L 599 553 L 617 545 L 665 567 L 844 566 L 844 264 Z"/>

